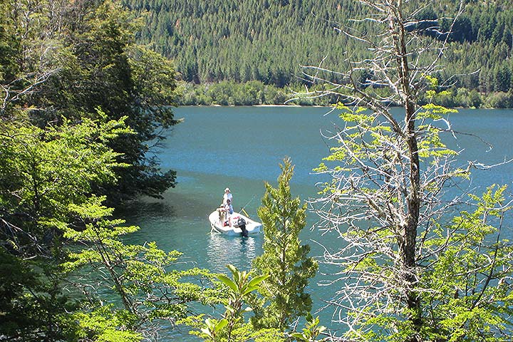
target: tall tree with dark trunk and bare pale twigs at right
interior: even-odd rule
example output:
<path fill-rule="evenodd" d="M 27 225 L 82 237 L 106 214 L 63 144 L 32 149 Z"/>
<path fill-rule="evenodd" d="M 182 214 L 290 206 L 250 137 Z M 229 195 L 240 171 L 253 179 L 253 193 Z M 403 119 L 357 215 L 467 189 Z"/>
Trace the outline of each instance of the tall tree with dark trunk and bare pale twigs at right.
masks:
<path fill-rule="evenodd" d="M 436 272 L 433 270 L 447 249 L 457 245 L 453 238 L 462 229 L 449 224 L 444 226 L 445 237 L 440 235 L 442 218 L 467 198 L 463 192 L 448 199 L 446 190 L 467 177 L 472 167 L 472 163 L 456 167 L 457 152 L 440 138 L 442 133 L 456 138 L 445 118 L 454 110 L 419 104 L 420 94 L 430 98 L 440 90 L 432 75 L 440 70 L 450 35 L 439 32 L 432 21 L 415 19 L 430 2 L 359 3 L 371 14 L 353 21 L 352 28 L 338 30 L 366 44 L 368 57 L 348 58 L 348 71 L 338 73 L 338 79 L 343 79 L 338 83 L 326 76 L 333 72 L 322 64 L 304 69 L 311 81 L 331 85 L 330 90 L 309 95 L 338 94 L 344 103 L 336 107 L 341 110 L 343 127 L 325 136 L 332 146 L 331 155 L 325 158 L 327 165 L 318 168 L 318 172 L 331 175 L 332 181 L 321 185 L 323 195 L 311 201 L 311 209 L 321 218 L 318 228 L 336 234 L 342 242 L 337 250 L 325 248 L 326 262 L 343 269 L 330 283 L 341 287 L 328 304 L 338 309 L 336 321 L 347 324 L 346 338 L 373 341 L 378 326 L 394 335 L 390 341 L 420 342 L 429 335 L 425 331 L 443 326 L 426 317 L 425 303 L 441 306 L 448 302 L 430 297 L 440 291 L 426 284 L 426 274 Z M 462 4 L 452 19 L 461 13 Z M 437 38 L 425 34 L 427 31 Z M 403 115 L 393 105 L 400 106 Z M 499 207 L 499 211 L 506 209 L 502 204 Z M 500 229 L 497 234 L 499 237 Z M 510 258 L 510 253 L 502 260 Z M 489 259 L 497 257 L 493 252 L 487 255 Z M 470 279 L 473 271 L 467 269 L 462 274 Z M 498 269 L 490 271 L 496 281 L 504 279 L 500 273 Z M 476 276 L 474 286 L 486 283 L 486 288 L 489 281 L 484 278 Z M 455 285 L 456 290 L 451 291 L 461 293 L 459 287 Z M 448 341 L 448 337 L 436 341 Z"/>

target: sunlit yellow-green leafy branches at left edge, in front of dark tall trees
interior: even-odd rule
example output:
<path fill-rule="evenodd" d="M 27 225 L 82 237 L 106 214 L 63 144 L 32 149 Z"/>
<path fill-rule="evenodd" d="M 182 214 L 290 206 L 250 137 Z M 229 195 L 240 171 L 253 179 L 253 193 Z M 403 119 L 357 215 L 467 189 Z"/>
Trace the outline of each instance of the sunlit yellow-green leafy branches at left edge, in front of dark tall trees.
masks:
<path fill-rule="evenodd" d="M 48 125 L 44 130 L 20 123 L 2 124 L 2 217 L 24 227 L 25 232 L 4 231 L 12 248 L 40 243 L 48 234 L 45 222 L 67 219 L 68 205 L 85 202 L 93 182 L 115 182 L 115 168 L 125 165 L 116 162 L 119 154 L 105 143 L 120 134 L 130 134 L 124 120 L 84 118 L 79 125 L 71 125 L 64 119 L 62 125 Z"/>

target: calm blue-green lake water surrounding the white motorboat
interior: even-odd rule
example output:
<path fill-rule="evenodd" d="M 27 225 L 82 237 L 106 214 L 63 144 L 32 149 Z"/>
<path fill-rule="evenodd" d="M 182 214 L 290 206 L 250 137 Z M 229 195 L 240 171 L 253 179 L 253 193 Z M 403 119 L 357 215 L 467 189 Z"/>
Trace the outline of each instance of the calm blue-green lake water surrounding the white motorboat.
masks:
<path fill-rule="evenodd" d="M 141 199 L 118 211 L 130 224 L 141 227 L 130 242 L 156 241 L 165 251 L 182 252 L 182 261 L 190 266 L 214 272 L 229 273 L 226 264 L 249 269 L 252 259 L 262 252 L 263 236 L 241 239 L 210 234 L 208 214 L 222 202 L 224 188 L 229 187 L 234 209 L 245 207 L 256 217 L 264 181 L 276 185 L 279 163 L 285 156 L 296 165 L 291 181 L 293 195 L 301 199 L 316 196 L 315 184 L 321 179 L 311 170 L 328 155 L 321 132 L 331 129 L 333 123 L 340 124 L 336 113 L 329 112 L 330 108 L 177 108 L 175 117 L 183 118 L 183 123 L 170 130 L 165 145 L 155 151 L 163 169 L 177 171 L 177 187 L 165 192 L 162 200 Z M 454 130 L 480 137 L 462 135 L 453 142 L 452 147 L 462 150 L 462 165 L 466 165 L 465 160 L 492 165 L 513 157 L 513 110 L 460 110 L 450 115 L 450 121 Z M 476 193 L 492 183 L 511 187 L 512 175 L 512 163 L 474 171 L 470 187 L 475 187 Z M 309 214 L 301 239 L 311 245 L 311 255 L 320 260 L 323 249 L 316 242 L 336 248 L 338 240 L 311 229 L 315 222 L 314 214 Z M 318 285 L 327 271 L 331 270 L 320 264 L 309 287 L 314 311 L 336 291 L 334 286 Z M 318 315 L 323 325 L 344 331 L 343 326 L 330 323 L 331 309 Z M 197 341 L 180 333 L 174 331 L 170 336 L 176 338 L 178 334 L 181 341 Z"/>

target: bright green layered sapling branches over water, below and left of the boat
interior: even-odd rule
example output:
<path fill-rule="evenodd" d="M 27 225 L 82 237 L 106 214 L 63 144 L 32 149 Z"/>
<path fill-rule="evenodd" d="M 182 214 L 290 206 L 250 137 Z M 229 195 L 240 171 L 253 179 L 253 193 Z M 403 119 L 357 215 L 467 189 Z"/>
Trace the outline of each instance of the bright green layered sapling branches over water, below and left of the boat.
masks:
<path fill-rule="evenodd" d="M 122 219 L 107 219 L 112 209 L 103 207 L 104 199 L 91 197 L 87 203 L 71 205 L 72 212 L 81 219 L 81 229 L 68 226 L 64 237 L 88 247 L 71 252 L 71 260 L 62 265 L 64 269 L 78 271 L 75 276 L 82 279 L 83 266 L 88 266 L 91 273 L 81 283 L 95 281 L 113 289 L 123 310 L 136 318 L 131 328 L 157 318 L 172 321 L 184 318 L 191 301 L 204 305 L 217 302 L 217 291 L 205 288 L 199 281 L 212 279 L 207 270 L 167 271 L 180 257 L 179 252 L 163 252 L 155 242 L 144 246 L 124 244 L 121 236 L 135 232 L 138 227 L 121 226 Z M 99 276 L 98 271 L 108 276 Z M 159 293 L 172 295 L 159 296 Z"/>

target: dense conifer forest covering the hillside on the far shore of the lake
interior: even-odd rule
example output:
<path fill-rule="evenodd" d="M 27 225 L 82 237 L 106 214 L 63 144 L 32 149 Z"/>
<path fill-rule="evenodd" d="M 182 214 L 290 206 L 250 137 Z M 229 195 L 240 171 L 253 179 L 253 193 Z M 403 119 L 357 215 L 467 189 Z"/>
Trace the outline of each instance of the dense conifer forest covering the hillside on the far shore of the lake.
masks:
<path fill-rule="evenodd" d="M 349 19 L 363 14 L 363 6 L 353 1 L 125 3 L 145 16 L 146 25 L 138 33 L 138 41 L 172 58 L 183 81 L 201 85 L 199 90 L 185 87 L 183 104 L 283 103 L 284 96 L 290 98 L 301 86 L 311 86 L 301 66 L 322 63 L 323 68 L 340 71 L 346 59 L 368 53 L 341 31 Z M 437 1 L 429 9 L 420 9 L 414 18 L 432 26 L 426 32 L 433 40 L 448 38 L 444 68 L 437 78 L 440 85 L 451 89 L 451 95 L 440 100 L 448 106 L 511 107 L 513 8 L 502 1 L 465 0 L 464 11 L 452 24 L 459 3 Z M 363 24 L 361 28 L 368 29 Z M 452 32 L 449 37 L 448 31 Z M 222 81 L 227 83 L 216 91 L 222 98 L 209 96 L 209 85 Z M 240 85 L 248 81 L 261 84 Z M 269 94 L 260 93 L 248 103 L 240 95 L 244 87 L 265 88 Z M 224 98 L 219 95 L 223 89 L 227 91 Z M 296 103 L 313 102 L 302 99 Z"/>

